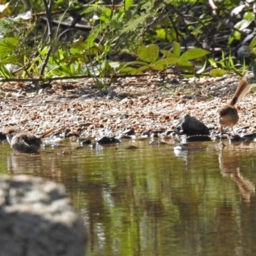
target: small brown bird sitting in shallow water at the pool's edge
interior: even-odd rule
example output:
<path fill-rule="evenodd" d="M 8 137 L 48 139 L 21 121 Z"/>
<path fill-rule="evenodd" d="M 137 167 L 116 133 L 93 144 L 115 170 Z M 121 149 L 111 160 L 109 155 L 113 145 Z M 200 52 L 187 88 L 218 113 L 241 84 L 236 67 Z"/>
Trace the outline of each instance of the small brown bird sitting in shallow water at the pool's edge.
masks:
<path fill-rule="evenodd" d="M 45 138 L 45 136 L 57 129 L 58 127 L 54 127 L 39 137 L 19 129 L 10 129 L 4 132 L 4 134 L 6 134 L 6 138 L 13 150 L 19 153 L 36 154 L 42 144 L 42 138 Z"/>

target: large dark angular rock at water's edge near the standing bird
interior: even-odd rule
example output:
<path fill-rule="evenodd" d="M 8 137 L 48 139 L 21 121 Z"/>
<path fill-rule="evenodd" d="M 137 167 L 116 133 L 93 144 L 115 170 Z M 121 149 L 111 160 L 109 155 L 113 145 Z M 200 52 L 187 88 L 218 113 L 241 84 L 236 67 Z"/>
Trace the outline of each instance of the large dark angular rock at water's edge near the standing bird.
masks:
<path fill-rule="evenodd" d="M 195 117 L 184 115 L 180 117 L 176 130 L 179 134 L 186 135 L 209 135 L 208 127 Z"/>

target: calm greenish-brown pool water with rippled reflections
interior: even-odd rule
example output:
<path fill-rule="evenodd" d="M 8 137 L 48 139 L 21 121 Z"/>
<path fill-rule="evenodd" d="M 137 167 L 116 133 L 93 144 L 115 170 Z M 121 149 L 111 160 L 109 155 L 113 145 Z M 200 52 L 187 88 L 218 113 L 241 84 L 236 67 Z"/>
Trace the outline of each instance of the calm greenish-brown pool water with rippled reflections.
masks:
<path fill-rule="evenodd" d="M 38 156 L 3 143 L 0 172 L 63 182 L 89 223 L 88 255 L 255 255 L 256 144 L 190 143 L 174 152 L 168 142 L 67 141 Z"/>

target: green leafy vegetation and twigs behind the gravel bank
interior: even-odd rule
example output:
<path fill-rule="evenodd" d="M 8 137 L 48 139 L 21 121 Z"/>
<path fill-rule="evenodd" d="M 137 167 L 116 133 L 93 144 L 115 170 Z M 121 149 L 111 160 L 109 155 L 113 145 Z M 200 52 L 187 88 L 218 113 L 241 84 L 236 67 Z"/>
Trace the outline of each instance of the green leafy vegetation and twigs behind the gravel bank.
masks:
<path fill-rule="evenodd" d="M 2 81 L 88 76 L 104 88 L 144 72 L 242 76 L 256 54 L 253 3 L 31 2 L 0 5 Z"/>

